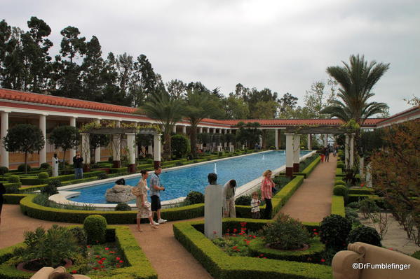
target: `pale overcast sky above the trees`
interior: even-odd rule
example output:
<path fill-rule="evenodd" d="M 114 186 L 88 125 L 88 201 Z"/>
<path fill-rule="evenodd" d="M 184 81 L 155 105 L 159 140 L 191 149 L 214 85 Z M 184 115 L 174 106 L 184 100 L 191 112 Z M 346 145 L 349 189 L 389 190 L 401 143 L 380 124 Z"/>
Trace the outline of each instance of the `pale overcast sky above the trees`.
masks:
<path fill-rule="evenodd" d="M 52 29 L 55 55 L 60 30 L 78 27 L 107 52 L 147 55 L 165 82 L 201 81 L 224 94 L 268 87 L 303 103 L 305 90 L 326 81 L 327 66 L 351 54 L 391 63 L 374 87 L 374 101 L 391 114 L 420 95 L 420 1 L 22 1 L 1 0 L 1 19 L 27 30 L 36 16 Z M 416 66 L 417 65 L 417 66 Z"/>

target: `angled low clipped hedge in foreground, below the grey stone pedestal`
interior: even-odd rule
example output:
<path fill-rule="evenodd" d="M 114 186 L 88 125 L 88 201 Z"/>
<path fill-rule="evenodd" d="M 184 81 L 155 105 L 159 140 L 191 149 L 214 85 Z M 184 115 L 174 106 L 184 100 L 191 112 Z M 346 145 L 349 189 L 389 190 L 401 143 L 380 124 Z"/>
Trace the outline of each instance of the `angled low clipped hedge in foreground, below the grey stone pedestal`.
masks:
<path fill-rule="evenodd" d="M 330 266 L 279 259 L 230 257 L 197 231 L 193 224 L 203 224 L 203 221 L 174 224 L 174 236 L 215 279 L 332 278 Z"/>

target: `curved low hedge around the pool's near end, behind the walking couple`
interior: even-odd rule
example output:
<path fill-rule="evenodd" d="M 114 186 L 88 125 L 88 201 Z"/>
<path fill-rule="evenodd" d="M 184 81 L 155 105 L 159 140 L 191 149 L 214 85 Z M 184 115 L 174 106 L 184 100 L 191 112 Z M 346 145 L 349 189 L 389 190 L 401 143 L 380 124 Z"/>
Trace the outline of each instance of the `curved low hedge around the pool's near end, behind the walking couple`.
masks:
<path fill-rule="evenodd" d="M 137 211 L 115 211 L 115 210 L 68 210 L 61 208 L 50 208 L 40 206 L 33 202 L 35 195 L 27 194 L 20 201 L 20 210 L 23 214 L 41 220 L 83 223 L 88 215 L 102 215 L 107 219 L 108 224 L 134 224 Z M 204 203 L 197 203 L 191 206 L 168 208 L 161 211 L 162 218 L 170 221 L 192 219 L 203 217 Z"/>

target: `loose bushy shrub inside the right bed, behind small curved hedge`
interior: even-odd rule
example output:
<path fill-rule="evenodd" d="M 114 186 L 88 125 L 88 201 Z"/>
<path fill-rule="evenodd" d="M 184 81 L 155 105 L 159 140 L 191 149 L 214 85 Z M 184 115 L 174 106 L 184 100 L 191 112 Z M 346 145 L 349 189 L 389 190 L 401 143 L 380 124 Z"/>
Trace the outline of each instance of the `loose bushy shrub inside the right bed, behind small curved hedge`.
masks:
<path fill-rule="evenodd" d="M 295 250 L 309 243 L 309 233 L 304 225 L 289 215 L 280 213 L 276 220 L 262 229 L 265 243 L 271 248 L 280 250 Z"/>

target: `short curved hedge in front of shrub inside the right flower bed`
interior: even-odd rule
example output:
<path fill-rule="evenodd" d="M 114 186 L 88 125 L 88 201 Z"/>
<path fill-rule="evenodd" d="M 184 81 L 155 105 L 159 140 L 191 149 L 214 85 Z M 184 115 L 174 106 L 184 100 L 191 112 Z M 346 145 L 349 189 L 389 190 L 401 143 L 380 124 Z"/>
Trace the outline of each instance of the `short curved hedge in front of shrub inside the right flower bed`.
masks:
<path fill-rule="evenodd" d="M 266 248 L 262 238 L 255 238 L 250 242 L 249 248 L 253 257 L 264 254 L 264 257 L 269 259 L 319 263 L 322 258 L 321 253 L 325 250 L 325 245 L 320 242 L 319 238 L 312 238 L 308 244 L 309 248 L 303 251 L 276 250 Z"/>

